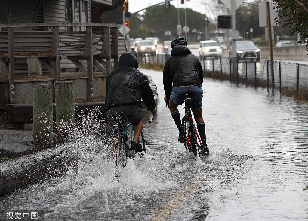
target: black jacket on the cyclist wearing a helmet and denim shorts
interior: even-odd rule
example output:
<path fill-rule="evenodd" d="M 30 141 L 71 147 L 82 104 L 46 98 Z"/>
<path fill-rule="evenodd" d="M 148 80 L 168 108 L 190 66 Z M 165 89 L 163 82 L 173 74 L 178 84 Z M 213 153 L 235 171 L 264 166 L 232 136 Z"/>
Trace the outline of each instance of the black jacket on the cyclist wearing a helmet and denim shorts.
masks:
<path fill-rule="evenodd" d="M 169 99 L 173 87 L 196 85 L 201 87 L 203 70 L 199 59 L 185 45 L 174 46 L 163 73 L 164 89 Z"/>

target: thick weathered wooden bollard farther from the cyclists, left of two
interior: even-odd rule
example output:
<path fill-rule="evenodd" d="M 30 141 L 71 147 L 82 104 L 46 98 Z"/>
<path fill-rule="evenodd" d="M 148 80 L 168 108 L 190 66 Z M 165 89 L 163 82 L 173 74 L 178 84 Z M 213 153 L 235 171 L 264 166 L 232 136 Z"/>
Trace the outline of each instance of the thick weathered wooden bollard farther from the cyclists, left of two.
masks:
<path fill-rule="evenodd" d="M 50 85 L 37 84 L 33 88 L 33 143 L 52 142 L 52 89 Z"/>

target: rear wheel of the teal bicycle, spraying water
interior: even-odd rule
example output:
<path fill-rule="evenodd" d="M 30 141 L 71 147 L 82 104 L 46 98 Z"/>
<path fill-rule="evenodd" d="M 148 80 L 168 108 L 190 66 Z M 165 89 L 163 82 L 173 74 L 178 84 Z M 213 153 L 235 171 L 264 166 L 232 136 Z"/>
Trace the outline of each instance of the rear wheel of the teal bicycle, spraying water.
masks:
<path fill-rule="evenodd" d="M 118 178 L 120 168 L 125 167 L 128 158 L 127 138 L 124 134 L 120 134 L 115 145 L 115 153 L 113 159 L 115 161 L 115 177 Z"/>

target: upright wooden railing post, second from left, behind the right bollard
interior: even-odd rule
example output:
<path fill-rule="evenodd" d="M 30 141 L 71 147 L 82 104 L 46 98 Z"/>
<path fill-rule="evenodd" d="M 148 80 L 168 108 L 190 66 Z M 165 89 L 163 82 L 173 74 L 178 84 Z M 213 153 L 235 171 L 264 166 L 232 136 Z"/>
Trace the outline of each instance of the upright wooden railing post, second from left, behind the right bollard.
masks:
<path fill-rule="evenodd" d="M 53 62 L 53 75 L 54 81 L 60 80 L 60 50 L 59 50 L 59 27 L 52 27 L 52 38 L 51 38 L 51 56 L 55 57 Z"/>

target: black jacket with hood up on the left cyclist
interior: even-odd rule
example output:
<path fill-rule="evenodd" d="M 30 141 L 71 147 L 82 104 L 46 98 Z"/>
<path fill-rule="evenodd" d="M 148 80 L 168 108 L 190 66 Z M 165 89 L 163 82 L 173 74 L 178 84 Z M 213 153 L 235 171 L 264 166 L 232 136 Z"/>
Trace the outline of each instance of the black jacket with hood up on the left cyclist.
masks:
<path fill-rule="evenodd" d="M 137 67 L 135 55 L 130 52 L 121 55 L 118 68 L 107 77 L 105 111 L 115 106 L 140 105 L 141 98 L 149 110 L 154 110 L 153 91 Z"/>

